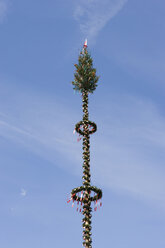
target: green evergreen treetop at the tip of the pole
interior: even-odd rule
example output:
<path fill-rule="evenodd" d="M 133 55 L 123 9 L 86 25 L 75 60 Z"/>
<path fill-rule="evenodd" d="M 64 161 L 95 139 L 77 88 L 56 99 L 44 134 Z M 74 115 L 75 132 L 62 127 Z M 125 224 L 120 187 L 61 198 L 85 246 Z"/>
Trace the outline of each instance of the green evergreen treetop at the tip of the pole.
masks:
<path fill-rule="evenodd" d="M 87 48 L 83 48 L 78 58 L 78 64 L 74 65 L 76 72 L 74 73 L 73 89 L 83 93 L 93 93 L 97 87 L 99 77 L 96 76 L 96 69 L 93 68 L 93 59 Z"/>

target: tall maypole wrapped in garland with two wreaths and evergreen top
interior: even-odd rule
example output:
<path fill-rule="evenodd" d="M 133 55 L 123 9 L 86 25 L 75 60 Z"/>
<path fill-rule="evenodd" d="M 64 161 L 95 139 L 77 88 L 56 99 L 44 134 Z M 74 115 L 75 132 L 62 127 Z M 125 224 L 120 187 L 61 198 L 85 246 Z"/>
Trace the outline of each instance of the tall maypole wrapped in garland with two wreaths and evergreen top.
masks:
<path fill-rule="evenodd" d="M 83 246 L 92 248 L 91 238 L 91 218 L 92 211 L 96 211 L 100 206 L 102 191 L 91 185 L 90 174 L 90 134 L 97 130 L 97 125 L 89 120 L 88 96 L 89 93 L 97 87 L 99 77 L 96 76 L 96 69 L 93 68 L 93 60 L 87 50 L 87 40 L 84 43 L 83 50 L 79 55 L 78 64 L 75 64 L 76 72 L 74 74 L 74 90 L 82 94 L 83 120 L 75 126 L 75 131 L 83 137 L 83 186 L 71 191 L 69 202 L 77 202 L 77 211 L 83 214 Z M 92 205 L 94 204 L 94 205 Z"/>

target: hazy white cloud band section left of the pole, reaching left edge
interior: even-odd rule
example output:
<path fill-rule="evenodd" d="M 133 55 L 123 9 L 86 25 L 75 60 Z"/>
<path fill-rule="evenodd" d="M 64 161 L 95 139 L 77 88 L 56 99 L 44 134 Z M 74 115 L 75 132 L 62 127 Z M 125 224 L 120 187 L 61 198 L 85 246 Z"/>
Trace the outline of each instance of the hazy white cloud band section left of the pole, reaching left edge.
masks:
<path fill-rule="evenodd" d="M 1 87 L 3 97 L 4 92 L 10 92 L 9 88 L 7 91 L 4 88 Z M 81 151 L 77 146 L 77 138 L 71 135 L 75 125 L 73 120 L 78 119 L 72 109 L 63 106 L 57 98 L 53 100 L 32 92 L 27 94 L 18 89 L 12 90 L 10 100 L 14 104 L 4 102 L 3 97 L 0 99 L 1 137 L 16 142 L 53 163 L 57 161 L 57 154 L 60 154 L 59 157 L 65 154 L 66 161 L 72 161 L 75 173 L 81 170 L 77 167 L 77 163 L 81 163 Z M 69 168 L 66 163 L 63 164 Z"/>

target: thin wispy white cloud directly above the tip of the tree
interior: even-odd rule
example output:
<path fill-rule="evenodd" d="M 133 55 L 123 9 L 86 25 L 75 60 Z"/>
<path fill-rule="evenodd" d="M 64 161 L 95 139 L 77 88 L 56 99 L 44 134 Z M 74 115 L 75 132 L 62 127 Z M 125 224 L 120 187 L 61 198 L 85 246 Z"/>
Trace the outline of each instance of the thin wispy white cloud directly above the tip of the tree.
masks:
<path fill-rule="evenodd" d="M 78 21 L 83 35 L 93 40 L 126 2 L 127 0 L 76 1 L 74 18 Z"/>

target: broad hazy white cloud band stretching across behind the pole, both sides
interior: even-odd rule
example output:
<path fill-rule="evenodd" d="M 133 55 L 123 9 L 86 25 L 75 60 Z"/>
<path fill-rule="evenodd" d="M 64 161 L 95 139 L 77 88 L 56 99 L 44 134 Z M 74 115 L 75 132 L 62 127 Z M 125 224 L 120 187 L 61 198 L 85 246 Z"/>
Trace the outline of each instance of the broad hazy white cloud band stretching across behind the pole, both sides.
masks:
<path fill-rule="evenodd" d="M 18 90 L 14 93 L 12 90 L 12 97 L 15 104 L 10 107 L 0 100 L 0 112 L 4 113 L 0 117 L 0 135 L 53 163 L 59 154 L 63 161 L 59 166 L 80 175 L 81 166 L 77 164 L 82 162 L 81 142 L 77 143 L 72 136 L 79 115 L 72 107 L 61 105 L 57 98 L 52 101 L 43 95 L 32 96 Z M 163 116 L 146 100 L 121 95 L 111 95 L 108 103 L 105 99 L 102 106 L 95 103 L 98 132 L 91 138 L 93 184 L 97 181 L 112 190 L 164 207 Z"/>

